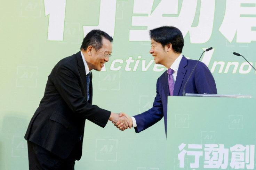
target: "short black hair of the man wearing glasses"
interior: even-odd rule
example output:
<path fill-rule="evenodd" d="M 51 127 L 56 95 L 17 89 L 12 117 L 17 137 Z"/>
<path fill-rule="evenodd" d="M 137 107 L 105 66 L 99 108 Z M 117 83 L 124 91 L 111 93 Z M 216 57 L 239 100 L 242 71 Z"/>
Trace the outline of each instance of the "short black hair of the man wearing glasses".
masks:
<path fill-rule="evenodd" d="M 110 42 L 113 41 L 113 38 L 109 34 L 101 31 L 100 29 L 93 29 L 83 39 L 80 49 L 87 50 L 88 46 L 91 45 L 98 50 L 102 48 L 102 38 L 105 38 Z"/>

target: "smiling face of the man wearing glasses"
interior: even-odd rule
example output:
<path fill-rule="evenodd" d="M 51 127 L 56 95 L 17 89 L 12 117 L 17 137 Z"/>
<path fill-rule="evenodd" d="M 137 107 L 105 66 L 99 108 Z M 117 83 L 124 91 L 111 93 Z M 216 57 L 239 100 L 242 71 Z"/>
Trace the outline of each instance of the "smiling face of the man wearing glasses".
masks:
<path fill-rule="evenodd" d="M 91 69 L 101 71 L 102 67 L 104 67 L 104 63 L 109 61 L 109 57 L 105 57 L 106 54 L 111 54 L 112 52 L 112 44 L 109 40 L 103 38 L 102 39 L 102 48 L 96 50 L 93 48 L 92 56 L 90 60 Z"/>

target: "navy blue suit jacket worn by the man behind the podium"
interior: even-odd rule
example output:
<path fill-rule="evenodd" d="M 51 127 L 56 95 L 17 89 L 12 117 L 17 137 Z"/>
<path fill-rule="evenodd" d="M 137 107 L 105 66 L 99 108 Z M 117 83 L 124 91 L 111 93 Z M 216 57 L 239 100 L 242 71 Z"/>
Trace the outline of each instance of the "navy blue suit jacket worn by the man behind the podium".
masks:
<path fill-rule="evenodd" d="M 174 85 L 174 96 L 181 96 L 184 85 L 189 78 L 197 60 L 188 60 L 184 56 L 179 64 L 177 77 Z M 198 62 L 197 67 L 192 73 L 185 88 L 186 93 L 198 93 L 198 94 L 217 94 L 217 88 L 213 75 L 208 67 Z M 168 74 L 165 71 L 157 80 L 157 95 L 153 103 L 153 107 L 144 113 L 134 116 L 136 119 L 137 127 L 135 127 L 136 133 L 145 130 L 146 128 L 154 125 L 159 120 L 164 118 L 165 121 L 165 133 L 167 130 L 167 96 L 169 95 L 168 87 Z"/>

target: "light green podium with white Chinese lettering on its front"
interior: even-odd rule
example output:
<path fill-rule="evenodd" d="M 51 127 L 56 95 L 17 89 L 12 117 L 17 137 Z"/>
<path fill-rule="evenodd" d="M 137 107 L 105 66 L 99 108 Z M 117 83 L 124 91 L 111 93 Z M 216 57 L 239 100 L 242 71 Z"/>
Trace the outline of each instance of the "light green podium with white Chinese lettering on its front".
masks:
<path fill-rule="evenodd" d="M 168 96 L 166 169 L 256 168 L 255 104 L 249 95 Z"/>

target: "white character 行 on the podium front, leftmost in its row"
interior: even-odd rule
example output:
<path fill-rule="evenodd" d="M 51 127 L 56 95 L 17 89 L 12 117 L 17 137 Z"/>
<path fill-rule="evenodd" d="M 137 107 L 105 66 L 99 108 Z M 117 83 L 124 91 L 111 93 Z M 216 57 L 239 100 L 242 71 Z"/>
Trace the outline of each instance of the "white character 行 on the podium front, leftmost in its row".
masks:
<path fill-rule="evenodd" d="M 199 159 L 200 156 L 203 155 L 202 151 L 186 151 L 184 150 L 184 147 L 186 144 L 182 143 L 179 145 L 179 151 L 181 151 L 178 154 L 178 160 L 179 160 L 179 168 L 184 168 L 184 160 L 185 160 L 185 154 L 188 156 L 194 156 L 194 163 L 190 163 L 190 168 L 199 168 Z M 202 149 L 202 145 L 197 144 L 188 144 L 189 149 Z"/>

